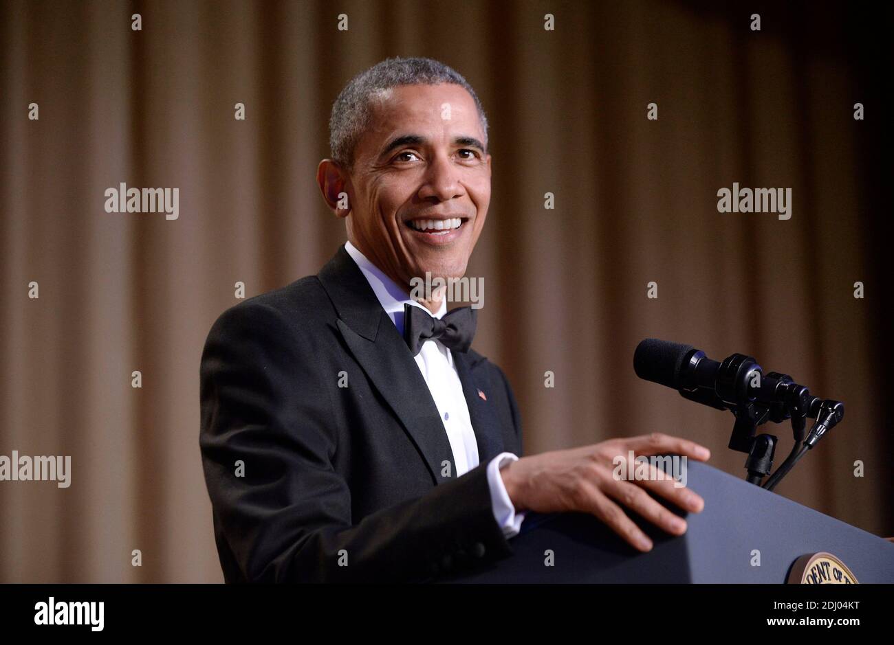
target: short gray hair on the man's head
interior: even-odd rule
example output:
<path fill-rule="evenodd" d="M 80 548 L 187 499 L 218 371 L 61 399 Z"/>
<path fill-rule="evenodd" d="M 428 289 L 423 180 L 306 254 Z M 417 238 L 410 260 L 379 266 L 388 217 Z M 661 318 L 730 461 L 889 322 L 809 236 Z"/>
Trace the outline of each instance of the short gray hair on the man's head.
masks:
<path fill-rule="evenodd" d="M 334 161 L 351 169 L 354 148 L 369 125 L 372 115 L 370 98 L 399 85 L 441 85 L 451 83 L 468 90 L 475 99 L 481 127 L 485 130 L 487 146 L 487 117 L 481 101 L 468 81 L 444 63 L 431 58 L 388 58 L 376 63 L 367 71 L 361 71 L 342 89 L 333 103 L 329 119 L 329 148 Z"/>

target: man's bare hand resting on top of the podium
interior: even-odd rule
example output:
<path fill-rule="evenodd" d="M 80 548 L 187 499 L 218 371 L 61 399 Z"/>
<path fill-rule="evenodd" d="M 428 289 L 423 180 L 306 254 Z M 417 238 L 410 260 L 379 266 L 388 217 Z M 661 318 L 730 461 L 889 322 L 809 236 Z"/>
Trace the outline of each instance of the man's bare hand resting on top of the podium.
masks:
<path fill-rule="evenodd" d="M 532 457 L 522 457 L 502 467 L 500 474 L 506 492 L 516 511 L 560 513 L 577 511 L 592 513 L 635 549 L 652 549 L 652 540 L 615 502 L 631 508 L 652 524 L 673 535 L 686 532 L 686 520 L 671 513 L 651 498 L 645 490 L 667 498 L 680 508 L 700 513 L 704 499 L 685 487 L 674 486 L 674 480 L 658 473 L 649 465 L 650 478 L 641 481 L 619 481 L 612 475 L 615 457 L 628 462 L 628 451 L 634 456 L 675 453 L 697 461 L 706 461 L 711 451 L 694 441 L 671 437 L 660 432 L 629 439 L 612 439 L 570 450 L 554 450 Z"/>

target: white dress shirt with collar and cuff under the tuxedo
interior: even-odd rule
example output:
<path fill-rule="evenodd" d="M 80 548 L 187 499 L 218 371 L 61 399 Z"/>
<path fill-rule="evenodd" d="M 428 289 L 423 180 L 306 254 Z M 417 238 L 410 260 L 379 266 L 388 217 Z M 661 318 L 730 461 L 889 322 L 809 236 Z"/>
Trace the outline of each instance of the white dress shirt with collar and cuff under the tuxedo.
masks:
<path fill-rule="evenodd" d="M 347 242 L 345 250 L 357 263 L 360 271 L 366 276 L 369 286 L 373 288 L 375 297 L 397 326 L 397 331 L 403 336 L 403 306 L 409 303 L 412 306 L 422 307 L 421 303 L 409 297 L 409 294 L 401 289 L 391 278 L 384 274 L 375 264 L 371 263 L 366 255 L 360 253 L 354 245 Z M 431 312 L 426 309 L 428 314 Z M 441 309 L 435 318 L 441 318 L 447 313 L 446 298 L 441 301 Z M 462 393 L 460 375 L 453 364 L 451 350 L 443 346 L 440 340 L 426 340 L 416 356 L 416 364 L 422 377 L 426 380 L 428 391 L 434 399 L 434 406 L 438 408 L 441 422 L 450 447 L 453 451 L 453 467 L 456 476 L 460 477 L 475 468 L 478 463 L 478 444 L 475 439 L 475 431 L 472 429 L 472 421 L 468 415 L 466 397 Z M 493 506 L 493 518 L 502 528 L 503 534 L 511 538 L 519 534 L 524 513 L 516 513 L 515 507 L 506 492 L 506 486 L 500 476 L 500 467 L 519 457 L 510 452 L 502 452 L 487 464 L 487 483 L 491 490 L 491 504 Z"/>

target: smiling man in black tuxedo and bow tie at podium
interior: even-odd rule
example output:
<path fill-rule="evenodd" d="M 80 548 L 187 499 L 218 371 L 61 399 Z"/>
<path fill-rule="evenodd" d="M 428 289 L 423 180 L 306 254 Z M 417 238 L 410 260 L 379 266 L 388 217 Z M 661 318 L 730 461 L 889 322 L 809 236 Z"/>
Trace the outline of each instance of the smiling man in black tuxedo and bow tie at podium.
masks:
<path fill-rule="evenodd" d="M 584 511 L 651 549 L 622 504 L 668 532 L 698 512 L 671 481 L 612 477 L 615 456 L 706 448 L 662 434 L 521 457 L 475 315 L 411 281 L 460 278 L 485 225 L 491 156 L 475 91 L 425 58 L 390 59 L 333 105 L 317 182 L 348 243 L 316 276 L 215 322 L 200 447 L 227 582 L 419 581 L 511 555 L 528 510 Z"/>

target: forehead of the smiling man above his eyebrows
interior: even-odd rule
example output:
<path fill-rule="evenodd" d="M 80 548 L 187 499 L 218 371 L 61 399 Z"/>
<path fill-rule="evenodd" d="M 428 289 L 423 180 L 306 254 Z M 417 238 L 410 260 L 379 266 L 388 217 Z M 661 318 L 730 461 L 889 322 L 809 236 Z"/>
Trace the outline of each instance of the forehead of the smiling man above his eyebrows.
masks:
<path fill-rule="evenodd" d="M 401 85 L 370 97 L 370 120 L 363 138 L 437 131 L 484 138 L 472 95 L 460 85 Z M 362 138 L 361 138 L 362 140 Z"/>

